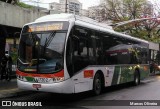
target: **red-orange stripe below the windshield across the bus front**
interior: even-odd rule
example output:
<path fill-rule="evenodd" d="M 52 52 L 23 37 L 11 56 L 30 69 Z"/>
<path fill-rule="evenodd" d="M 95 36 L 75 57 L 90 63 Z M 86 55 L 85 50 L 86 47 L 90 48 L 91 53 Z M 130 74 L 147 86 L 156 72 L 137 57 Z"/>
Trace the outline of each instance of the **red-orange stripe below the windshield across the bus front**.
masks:
<path fill-rule="evenodd" d="M 28 76 L 28 77 L 53 78 L 53 77 L 64 77 L 64 70 L 61 70 L 60 72 L 57 72 L 54 74 L 33 74 L 33 73 L 25 73 L 25 72 L 21 72 L 21 71 L 17 70 L 16 74 L 20 75 L 20 76 Z"/>

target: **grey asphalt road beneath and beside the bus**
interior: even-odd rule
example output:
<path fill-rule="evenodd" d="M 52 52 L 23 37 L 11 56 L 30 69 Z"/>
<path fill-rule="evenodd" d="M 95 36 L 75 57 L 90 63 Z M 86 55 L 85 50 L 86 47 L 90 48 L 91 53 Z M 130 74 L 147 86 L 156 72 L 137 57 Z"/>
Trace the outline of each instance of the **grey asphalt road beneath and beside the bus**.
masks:
<path fill-rule="evenodd" d="M 42 107 L 37 107 L 37 109 L 160 109 L 160 76 L 144 81 L 139 86 L 124 84 L 109 87 L 99 96 L 93 96 L 91 92 L 70 95 L 36 92 L 3 100 L 41 102 Z M 138 103 L 138 105 L 144 102 L 152 104 L 149 106 L 129 106 L 130 102 Z M 156 103 L 159 106 L 156 106 Z M 28 109 L 36 107 L 18 106 L 17 108 Z"/>

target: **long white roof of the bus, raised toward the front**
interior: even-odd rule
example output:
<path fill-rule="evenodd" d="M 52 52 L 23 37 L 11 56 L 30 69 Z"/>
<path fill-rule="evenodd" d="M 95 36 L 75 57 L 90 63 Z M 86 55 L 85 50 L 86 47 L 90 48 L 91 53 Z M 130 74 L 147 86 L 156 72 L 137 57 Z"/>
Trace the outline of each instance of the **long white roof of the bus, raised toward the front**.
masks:
<path fill-rule="evenodd" d="M 46 16 L 43 16 L 43 17 L 36 19 L 35 22 L 32 22 L 32 23 L 47 22 L 47 21 L 72 21 L 72 22 L 75 22 L 75 24 L 80 25 L 80 26 L 84 26 L 84 27 L 87 26 L 91 29 L 96 29 L 98 31 L 108 32 L 108 33 L 116 35 L 116 36 L 121 36 L 121 37 L 128 38 L 131 40 L 141 41 L 143 43 L 148 43 L 148 41 L 146 41 L 146 40 L 132 37 L 130 35 L 122 34 L 120 32 L 116 32 L 113 30 L 113 28 L 111 26 L 109 26 L 107 24 L 97 22 L 96 20 L 93 20 L 88 17 L 78 16 L 78 15 L 74 15 L 74 14 L 61 13 L 61 14 L 46 15 Z"/>

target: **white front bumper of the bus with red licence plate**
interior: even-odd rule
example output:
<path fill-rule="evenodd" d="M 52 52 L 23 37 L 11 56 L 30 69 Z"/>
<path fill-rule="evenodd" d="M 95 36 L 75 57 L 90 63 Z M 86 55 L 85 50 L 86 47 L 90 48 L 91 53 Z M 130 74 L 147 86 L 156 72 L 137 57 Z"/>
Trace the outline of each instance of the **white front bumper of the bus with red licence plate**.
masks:
<path fill-rule="evenodd" d="M 74 93 L 74 84 L 71 79 L 52 84 L 44 83 L 30 83 L 17 79 L 19 89 L 33 90 L 33 91 L 44 91 L 54 93 Z"/>

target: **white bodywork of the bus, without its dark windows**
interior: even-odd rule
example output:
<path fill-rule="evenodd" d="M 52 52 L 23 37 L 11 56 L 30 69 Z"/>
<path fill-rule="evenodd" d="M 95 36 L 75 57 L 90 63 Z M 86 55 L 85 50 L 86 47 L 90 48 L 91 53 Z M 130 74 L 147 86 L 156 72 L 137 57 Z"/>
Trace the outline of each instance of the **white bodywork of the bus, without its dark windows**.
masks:
<path fill-rule="evenodd" d="M 116 36 L 127 38 L 127 40 L 142 42 L 146 45 L 148 44 L 147 41 L 144 41 L 144 40 L 141 40 L 138 38 L 134 38 L 129 35 L 124 35 L 124 34 L 115 32 L 112 29 L 112 27 L 110 27 L 110 26 L 107 26 L 107 25 L 104 26 L 104 25 L 102 25 L 94 20 L 91 20 L 89 18 L 75 16 L 73 14 L 47 15 L 47 16 L 44 16 L 44 17 L 41 17 L 41 18 L 35 20 L 35 22 L 26 24 L 25 26 L 36 25 L 39 23 L 52 22 L 52 21 L 54 21 L 54 22 L 61 22 L 61 21 L 69 22 L 69 26 L 68 26 L 67 34 L 66 34 L 66 38 L 65 38 L 64 51 L 67 50 L 67 41 L 69 40 L 69 35 L 71 34 L 71 31 L 74 26 L 85 27 L 85 28 L 92 29 L 95 31 L 100 31 L 102 33 L 107 32 L 108 34 L 111 34 L 111 35 L 116 35 Z M 38 27 L 36 27 L 36 28 L 38 28 Z M 42 30 L 43 28 L 39 27 L 39 29 Z M 33 29 L 33 30 L 39 32 L 39 30 L 36 30 L 36 29 Z M 22 30 L 21 34 L 23 34 L 23 30 Z M 23 36 L 21 35 L 21 39 L 22 39 L 22 37 Z M 20 39 L 20 41 L 21 41 L 21 39 Z M 21 45 L 20 45 L 20 47 L 21 47 Z M 92 49 L 86 49 L 86 50 L 92 50 Z M 112 52 L 114 52 L 114 53 L 112 53 Z M 113 57 L 113 55 L 115 55 L 117 53 L 121 53 L 121 52 L 122 52 L 122 54 L 125 54 L 125 53 L 130 53 L 131 51 L 129 51 L 129 50 L 127 51 L 126 49 L 123 49 L 120 52 L 117 50 L 106 51 L 106 53 L 109 53 L 109 56 L 111 56 L 111 57 Z M 19 54 L 21 54 L 21 50 L 19 50 Z M 25 89 L 25 90 L 35 90 L 35 91 L 45 91 L 45 92 L 55 92 L 55 93 L 79 93 L 79 92 L 84 92 L 84 91 L 89 91 L 89 90 L 96 90 L 96 89 L 99 90 L 99 88 L 102 89 L 102 87 L 95 85 L 95 84 L 98 84 L 99 82 L 101 83 L 100 84 L 101 86 L 103 85 L 103 86 L 107 87 L 107 86 L 111 86 L 111 85 L 117 85 L 117 84 L 121 84 L 121 83 L 125 83 L 125 82 L 134 81 L 135 76 L 132 76 L 132 77 L 129 76 L 129 79 L 125 78 L 123 73 L 127 72 L 126 69 L 129 69 L 127 75 L 135 75 L 135 71 L 137 70 L 138 75 L 141 76 L 141 77 L 137 76 L 138 79 L 143 79 L 146 76 L 148 76 L 148 74 L 149 74 L 148 73 L 148 65 L 147 65 L 147 63 L 144 63 L 143 65 L 141 65 L 141 64 L 130 64 L 130 65 L 127 65 L 127 64 L 115 64 L 115 65 L 113 65 L 113 64 L 112 65 L 91 64 L 91 65 L 88 65 L 80 70 L 77 70 L 76 73 L 74 73 L 72 75 L 68 72 L 68 69 L 67 69 L 66 55 L 67 55 L 66 52 L 64 52 L 64 58 L 63 58 L 63 67 L 64 68 L 63 68 L 63 70 L 59 71 L 63 75 L 61 77 L 56 77 L 56 73 L 55 74 L 34 73 L 35 71 L 33 70 L 33 68 L 32 69 L 25 68 L 22 71 L 21 69 L 24 68 L 25 65 L 29 65 L 29 64 L 19 58 L 18 61 L 20 64 L 23 64 L 23 67 L 21 67 L 20 64 L 17 65 L 18 87 L 20 89 Z M 39 61 L 39 60 L 37 60 L 37 61 Z M 36 62 L 36 63 L 38 63 L 38 62 Z M 33 63 L 31 63 L 31 64 L 33 64 Z M 79 63 L 79 64 L 82 64 L 82 63 Z M 30 66 L 32 66 L 32 65 L 30 65 Z M 38 67 L 41 67 L 41 66 L 38 66 Z M 146 74 L 142 74 L 143 70 L 145 70 Z M 99 73 L 99 75 L 101 77 L 100 81 L 99 81 L 99 79 L 94 80 L 95 75 L 97 73 Z M 115 75 L 115 73 L 116 73 L 116 75 Z M 139 73 L 141 73 L 141 74 L 139 74 Z M 94 81 L 95 81 L 95 83 L 94 83 Z M 96 81 L 97 81 L 97 83 L 96 83 Z M 140 80 L 138 80 L 138 82 L 139 81 Z M 138 82 L 137 82 L 137 84 L 139 84 Z M 101 89 L 100 89 L 100 91 L 101 91 Z M 99 94 L 99 91 L 96 92 L 96 94 Z"/>

